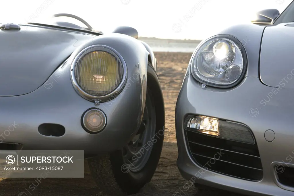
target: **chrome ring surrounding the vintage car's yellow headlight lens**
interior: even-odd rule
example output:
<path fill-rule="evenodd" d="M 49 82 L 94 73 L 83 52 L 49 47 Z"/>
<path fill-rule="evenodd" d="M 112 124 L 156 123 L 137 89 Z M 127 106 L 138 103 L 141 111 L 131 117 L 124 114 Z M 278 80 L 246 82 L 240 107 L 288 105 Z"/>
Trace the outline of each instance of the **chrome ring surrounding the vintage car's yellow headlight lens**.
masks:
<path fill-rule="evenodd" d="M 93 51 L 93 49 L 95 49 L 95 51 L 103 51 L 103 52 L 107 52 L 112 54 L 114 57 L 116 57 L 122 65 L 123 68 L 123 77 L 121 79 L 120 84 L 110 93 L 102 95 L 102 96 L 95 96 L 93 94 L 90 94 L 88 92 L 86 92 L 85 90 L 83 90 L 81 88 L 81 86 L 78 84 L 77 79 L 76 79 L 76 64 L 78 62 L 78 60 L 85 56 L 86 54 L 90 53 L 91 51 Z M 126 66 L 126 62 L 124 61 L 123 57 L 121 56 L 121 54 L 119 54 L 115 49 L 109 47 L 109 46 L 105 46 L 105 45 L 92 45 L 92 46 L 88 46 L 85 49 L 81 50 L 81 52 L 79 52 L 76 57 L 74 57 L 73 62 L 71 63 L 71 68 L 70 68 L 70 74 L 71 74 L 71 82 L 73 84 L 74 89 L 76 90 L 76 92 L 83 98 L 87 99 L 88 101 L 94 102 L 96 100 L 100 101 L 100 102 L 106 102 L 109 101 L 111 99 L 114 99 L 115 97 L 118 96 L 118 94 L 123 90 L 126 81 L 127 81 L 127 77 L 128 77 L 128 70 L 127 70 L 127 66 Z"/>

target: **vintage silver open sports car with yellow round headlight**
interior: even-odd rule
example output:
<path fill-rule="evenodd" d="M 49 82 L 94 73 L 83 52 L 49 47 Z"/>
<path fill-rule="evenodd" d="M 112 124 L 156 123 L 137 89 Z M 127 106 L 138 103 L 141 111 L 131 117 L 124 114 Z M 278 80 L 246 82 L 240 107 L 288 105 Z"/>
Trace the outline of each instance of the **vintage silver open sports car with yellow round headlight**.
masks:
<path fill-rule="evenodd" d="M 104 194 L 136 193 L 163 145 L 156 58 L 131 27 L 103 34 L 60 17 L 85 27 L 1 24 L 0 150 L 84 150 Z"/>

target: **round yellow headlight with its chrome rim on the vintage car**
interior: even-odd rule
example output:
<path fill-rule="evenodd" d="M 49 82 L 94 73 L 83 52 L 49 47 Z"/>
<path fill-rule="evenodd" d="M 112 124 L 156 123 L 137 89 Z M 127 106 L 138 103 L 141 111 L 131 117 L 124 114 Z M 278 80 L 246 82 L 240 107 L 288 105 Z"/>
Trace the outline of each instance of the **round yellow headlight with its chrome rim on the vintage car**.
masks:
<path fill-rule="evenodd" d="M 127 68 L 123 58 L 108 46 L 90 46 L 72 63 L 71 79 L 76 90 L 89 100 L 107 101 L 122 90 Z"/>

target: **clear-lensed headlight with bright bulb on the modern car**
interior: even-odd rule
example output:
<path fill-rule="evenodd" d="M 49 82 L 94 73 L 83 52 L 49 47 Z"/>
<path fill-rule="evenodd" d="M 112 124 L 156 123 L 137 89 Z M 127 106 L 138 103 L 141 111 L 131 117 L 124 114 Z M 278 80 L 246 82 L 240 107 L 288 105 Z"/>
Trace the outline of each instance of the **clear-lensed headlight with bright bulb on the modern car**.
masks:
<path fill-rule="evenodd" d="M 228 35 L 204 41 L 191 61 L 193 76 L 215 87 L 230 87 L 242 79 L 246 70 L 245 51 L 241 43 Z"/>

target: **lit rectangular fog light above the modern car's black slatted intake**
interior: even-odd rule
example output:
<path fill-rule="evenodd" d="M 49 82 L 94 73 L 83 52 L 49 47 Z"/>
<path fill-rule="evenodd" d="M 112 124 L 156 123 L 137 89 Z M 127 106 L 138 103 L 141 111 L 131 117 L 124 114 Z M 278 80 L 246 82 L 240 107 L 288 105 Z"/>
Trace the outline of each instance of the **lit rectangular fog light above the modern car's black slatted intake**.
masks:
<path fill-rule="evenodd" d="M 188 119 L 187 128 L 205 134 L 219 135 L 218 119 L 216 118 L 205 116 L 190 117 Z"/>

